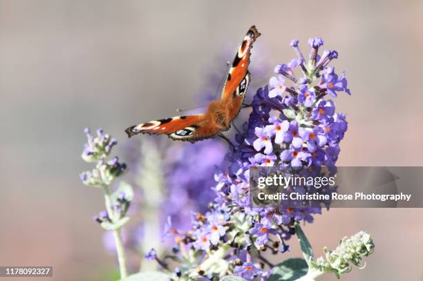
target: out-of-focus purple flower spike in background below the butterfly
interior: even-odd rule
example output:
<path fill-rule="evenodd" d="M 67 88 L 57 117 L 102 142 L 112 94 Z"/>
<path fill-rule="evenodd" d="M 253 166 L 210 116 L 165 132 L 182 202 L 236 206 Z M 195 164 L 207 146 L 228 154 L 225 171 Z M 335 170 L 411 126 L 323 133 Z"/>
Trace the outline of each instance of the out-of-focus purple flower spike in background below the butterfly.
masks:
<path fill-rule="evenodd" d="M 167 150 L 164 170 L 167 190 L 162 212 L 164 220 L 172 217 L 178 229 L 189 229 L 187 217 L 207 211 L 214 199 L 212 187 L 216 167 L 223 166 L 227 148 L 216 139 L 195 144 L 175 144 Z"/>

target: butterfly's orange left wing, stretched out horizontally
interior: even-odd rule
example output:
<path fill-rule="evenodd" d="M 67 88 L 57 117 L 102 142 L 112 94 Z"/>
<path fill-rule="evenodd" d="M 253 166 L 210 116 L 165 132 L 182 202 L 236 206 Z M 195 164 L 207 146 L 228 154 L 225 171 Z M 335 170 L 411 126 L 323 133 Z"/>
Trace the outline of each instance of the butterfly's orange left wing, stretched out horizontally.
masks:
<path fill-rule="evenodd" d="M 217 133 L 209 129 L 210 126 L 207 126 L 208 122 L 203 114 L 176 116 L 131 126 L 125 132 L 128 137 L 137 134 L 164 134 L 168 135 L 171 139 L 196 142 Z"/>

